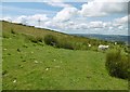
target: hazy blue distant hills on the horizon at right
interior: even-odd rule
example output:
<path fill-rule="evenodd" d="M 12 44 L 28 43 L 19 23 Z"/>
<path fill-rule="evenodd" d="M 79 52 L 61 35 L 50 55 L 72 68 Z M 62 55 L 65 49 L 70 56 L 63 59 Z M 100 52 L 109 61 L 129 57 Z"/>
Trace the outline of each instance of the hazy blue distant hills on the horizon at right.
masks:
<path fill-rule="evenodd" d="M 128 43 L 130 40 L 130 36 L 120 36 L 120 35 L 95 35 L 95 34 L 72 34 L 74 36 L 87 37 L 87 38 L 95 38 L 100 40 L 107 41 L 121 41 Z"/>

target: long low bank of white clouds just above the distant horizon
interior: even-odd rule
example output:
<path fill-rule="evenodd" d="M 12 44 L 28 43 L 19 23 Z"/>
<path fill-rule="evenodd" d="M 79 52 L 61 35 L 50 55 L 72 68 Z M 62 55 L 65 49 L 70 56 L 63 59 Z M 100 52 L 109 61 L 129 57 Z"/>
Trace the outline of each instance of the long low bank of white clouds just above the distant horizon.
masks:
<path fill-rule="evenodd" d="M 120 18 L 125 18 L 120 17 Z M 127 35 L 127 24 L 115 25 L 115 21 L 112 22 L 82 22 L 77 19 L 70 19 L 66 22 L 47 22 L 47 28 L 62 30 L 66 32 L 88 32 L 88 34 L 104 34 L 104 35 Z"/>

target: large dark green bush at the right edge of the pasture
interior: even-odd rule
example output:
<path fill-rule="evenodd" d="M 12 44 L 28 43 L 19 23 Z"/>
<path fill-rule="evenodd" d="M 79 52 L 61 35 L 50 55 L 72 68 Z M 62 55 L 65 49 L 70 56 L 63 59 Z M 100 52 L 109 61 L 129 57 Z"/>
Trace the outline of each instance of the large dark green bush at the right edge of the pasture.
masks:
<path fill-rule="evenodd" d="M 107 52 L 105 66 L 113 77 L 128 79 L 130 76 L 130 62 L 128 61 L 128 56 L 122 55 L 119 50 Z"/>

